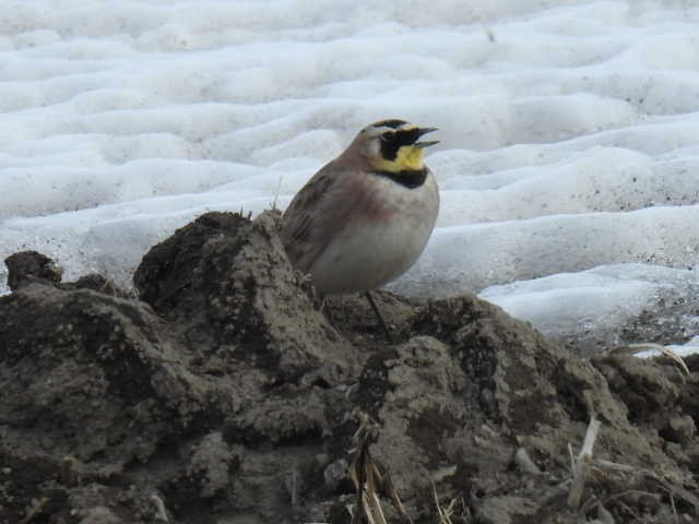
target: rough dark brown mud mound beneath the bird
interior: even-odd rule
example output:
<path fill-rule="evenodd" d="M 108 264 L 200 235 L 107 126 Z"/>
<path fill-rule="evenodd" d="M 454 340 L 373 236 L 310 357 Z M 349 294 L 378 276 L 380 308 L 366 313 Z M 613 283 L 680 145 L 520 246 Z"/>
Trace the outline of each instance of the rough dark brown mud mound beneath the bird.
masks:
<path fill-rule="evenodd" d="M 203 215 L 144 257 L 140 299 L 8 260 L 0 523 L 348 523 L 362 420 L 414 522 L 697 522 L 698 357 L 582 359 L 472 296 L 379 293 L 391 344 L 357 297 L 319 311 L 277 231 Z"/>

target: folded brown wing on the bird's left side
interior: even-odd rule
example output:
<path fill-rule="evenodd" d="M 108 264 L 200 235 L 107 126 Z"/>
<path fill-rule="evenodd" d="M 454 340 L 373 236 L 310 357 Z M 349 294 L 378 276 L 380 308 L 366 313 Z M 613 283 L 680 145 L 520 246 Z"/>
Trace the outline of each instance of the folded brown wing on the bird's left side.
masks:
<path fill-rule="evenodd" d="M 284 212 L 282 240 L 292 263 L 308 272 L 347 222 L 360 195 L 348 191 L 353 176 L 328 164 L 304 186 Z"/>

